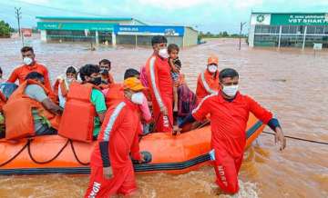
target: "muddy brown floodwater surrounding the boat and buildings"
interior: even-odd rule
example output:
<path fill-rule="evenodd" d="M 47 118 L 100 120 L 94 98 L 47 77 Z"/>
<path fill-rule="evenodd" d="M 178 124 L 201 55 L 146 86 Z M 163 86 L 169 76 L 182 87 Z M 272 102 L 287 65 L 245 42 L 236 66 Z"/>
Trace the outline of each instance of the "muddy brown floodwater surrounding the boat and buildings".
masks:
<path fill-rule="evenodd" d="M 90 52 L 87 44 L 44 44 L 37 38 L 27 42 L 52 80 L 69 65 L 108 58 L 112 74 L 121 81 L 127 68 L 139 68 L 151 54 L 149 48 L 99 46 Z M 0 40 L 5 77 L 21 64 L 20 46 L 15 39 Z M 241 92 L 277 114 L 285 134 L 328 142 L 328 51 L 314 56 L 311 49 L 251 49 L 245 44 L 239 51 L 237 40 L 211 40 L 180 51 L 182 71 L 193 90 L 209 54 L 219 55 L 220 69 L 240 72 Z M 328 145 L 294 140 L 287 144 L 281 153 L 272 135 L 261 134 L 258 144 L 246 151 L 241 191 L 234 197 L 328 197 Z M 217 195 L 214 179 L 211 167 L 180 175 L 138 175 L 136 197 L 225 197 Z M 87 175 L 0 176 L 0 197 L 82 197 L 87 183 Z"/>

